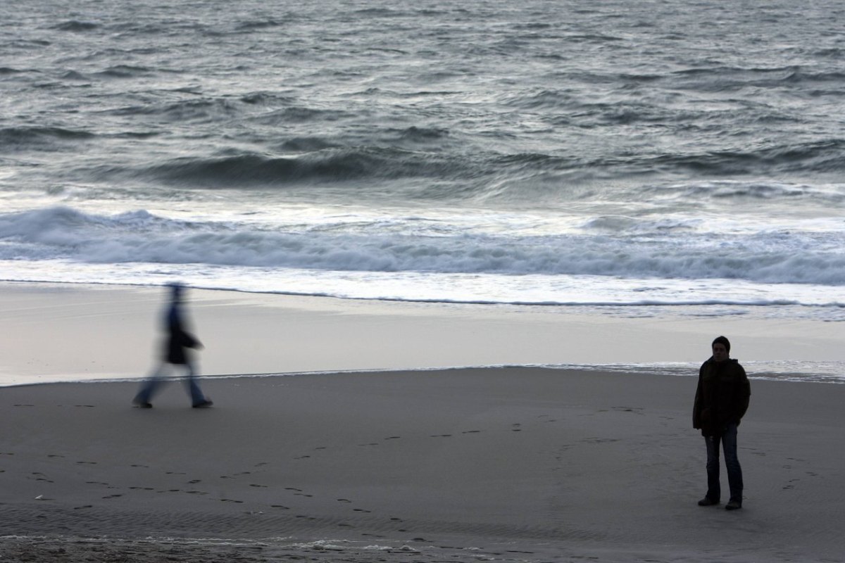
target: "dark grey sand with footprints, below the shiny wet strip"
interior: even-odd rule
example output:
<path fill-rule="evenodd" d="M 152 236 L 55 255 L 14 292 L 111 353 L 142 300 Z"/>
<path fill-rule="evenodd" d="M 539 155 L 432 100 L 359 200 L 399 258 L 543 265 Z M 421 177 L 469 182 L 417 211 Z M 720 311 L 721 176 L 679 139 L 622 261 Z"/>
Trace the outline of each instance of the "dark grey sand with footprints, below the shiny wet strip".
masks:
<path fill-rule="evenodd" d="M 0 389 L 0 560 L 842 561 L 845 386 L 752 382 L 696 506 L 695 378 L 539 368 Z"/>

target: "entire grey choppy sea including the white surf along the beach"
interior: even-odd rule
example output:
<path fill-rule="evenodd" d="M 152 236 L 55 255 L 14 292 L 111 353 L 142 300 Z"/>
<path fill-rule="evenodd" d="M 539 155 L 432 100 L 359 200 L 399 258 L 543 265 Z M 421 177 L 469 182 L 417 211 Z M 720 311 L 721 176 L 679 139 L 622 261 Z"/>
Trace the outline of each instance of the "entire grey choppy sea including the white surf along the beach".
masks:
<path fill-rule="evenodd" d="M 845 321 L 845 5 L 0 5 L 0 279 Z"/>

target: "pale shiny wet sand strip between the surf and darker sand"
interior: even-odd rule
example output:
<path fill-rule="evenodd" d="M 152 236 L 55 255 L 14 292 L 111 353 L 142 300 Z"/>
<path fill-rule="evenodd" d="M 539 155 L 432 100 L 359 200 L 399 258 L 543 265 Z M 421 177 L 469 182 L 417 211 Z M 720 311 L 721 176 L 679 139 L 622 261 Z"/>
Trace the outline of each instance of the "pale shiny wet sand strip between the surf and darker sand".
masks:
<path fill-rule="evenodd" d="M 14 327 L 0 339 L 0 386 L 143 378 L 158 354 L 165 298 L 162 287 L 0 283 L 0 322 Z M 204 376 L 508 365 L 679 365 L 696 373 L 722 333 L 748 371 L 814 365 L 836 375 L 843 362 L 837 323 L 749 315 L 633 317 L 194 289 L 186 311 L 205 345 Z"/>

